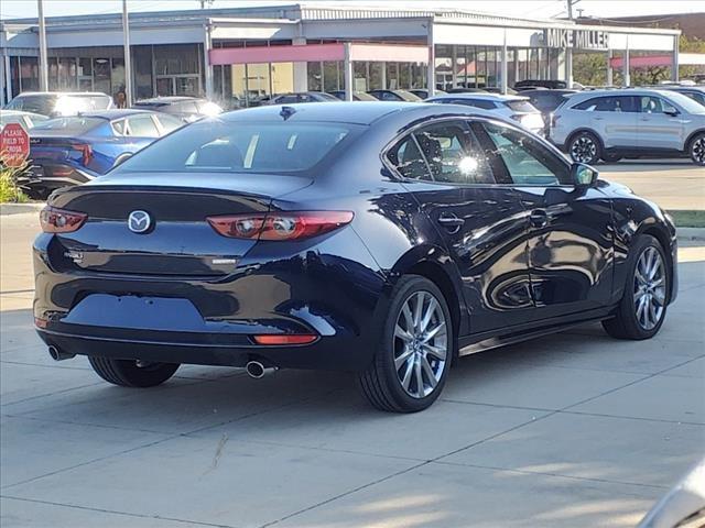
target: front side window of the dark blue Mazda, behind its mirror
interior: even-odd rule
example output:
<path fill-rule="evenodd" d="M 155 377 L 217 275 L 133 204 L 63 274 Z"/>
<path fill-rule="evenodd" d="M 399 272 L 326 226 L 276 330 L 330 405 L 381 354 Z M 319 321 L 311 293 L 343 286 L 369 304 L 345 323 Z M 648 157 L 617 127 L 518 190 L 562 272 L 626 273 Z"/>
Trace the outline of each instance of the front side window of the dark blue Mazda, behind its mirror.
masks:
<path fill-rule="evenodd" d="M 567 164 L 530 135 L 490 122 L 475 127 L 481 127 L 489 138 L 490 155 L 501 160 L 509 179 L 507 183 L 539 186 L 571 184 Z"/>

